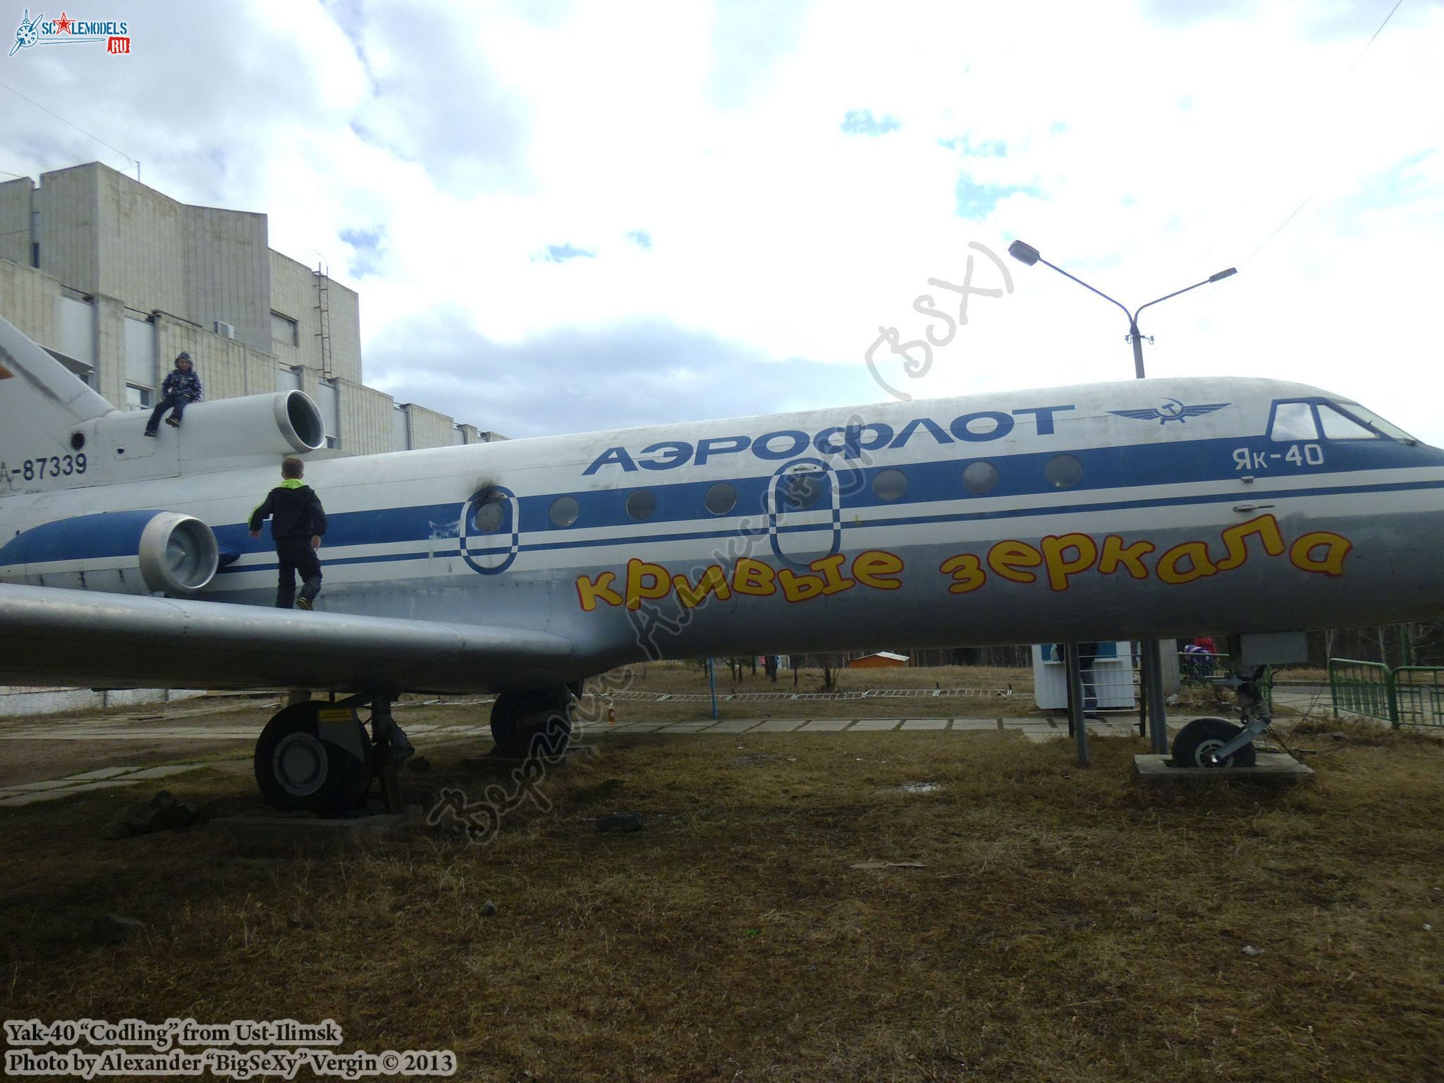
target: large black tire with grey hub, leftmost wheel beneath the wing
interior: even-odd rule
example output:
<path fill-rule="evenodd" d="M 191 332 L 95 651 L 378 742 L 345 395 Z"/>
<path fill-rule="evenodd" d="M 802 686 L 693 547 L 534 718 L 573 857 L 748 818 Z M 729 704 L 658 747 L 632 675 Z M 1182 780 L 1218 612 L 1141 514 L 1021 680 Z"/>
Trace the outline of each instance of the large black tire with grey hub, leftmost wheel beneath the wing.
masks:
<path fill-rule="evenodd" d="M 371 784 L 371 738 L 355 719 L 355 748 L 321 736 L 323 703 L 292 703 L 277 712 L 256 742 L 256 784 L 273 809 L 339 814 L 360 809 Z M 329 723 L 328 723 L 329 729 Z"/>

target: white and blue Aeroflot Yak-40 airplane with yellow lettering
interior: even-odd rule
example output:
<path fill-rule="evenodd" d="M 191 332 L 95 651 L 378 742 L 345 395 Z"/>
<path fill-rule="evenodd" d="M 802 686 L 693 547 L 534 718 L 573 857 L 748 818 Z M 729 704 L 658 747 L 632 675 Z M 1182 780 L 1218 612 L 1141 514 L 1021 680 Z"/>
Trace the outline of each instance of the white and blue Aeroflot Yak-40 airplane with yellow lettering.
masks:
<path fill-rule="evenodd" d="M 403 692 L 498 693 L 503 752 L 556 752 L 585 677 L 656 657 L 1240 635 L 1444 609 L 1444 452 L 1255 378 L 312 455 L 315 612 L 273 608 L 247 518 L 323 443 L 299 391 L 142 435 L 0 321 L 0 683 L 315 689 L 256 748 L 283 807 L 364 799 Z M 1242 677 L 1252 674 L 1242 673 Z M 371 708 L 368 736 L 357 706 Z M 1249 762 L 1266 719 L 1190 723 Z"/>

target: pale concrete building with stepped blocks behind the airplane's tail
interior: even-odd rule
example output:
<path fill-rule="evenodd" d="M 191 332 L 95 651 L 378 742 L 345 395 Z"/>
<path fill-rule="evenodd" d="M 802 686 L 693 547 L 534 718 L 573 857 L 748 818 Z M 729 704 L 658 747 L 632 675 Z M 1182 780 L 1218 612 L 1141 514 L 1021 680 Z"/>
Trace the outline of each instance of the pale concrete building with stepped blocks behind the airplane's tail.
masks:
<path fill-rule="evenodd" d="M 270 248 L 264 214 L 98 162 L 0 183 L 0 315 L 118 407 L 152 407 L 188 349 L 206 399 L 309 394 L 341 453 L 504 439 L 367 387 L 360 297 Z"/>

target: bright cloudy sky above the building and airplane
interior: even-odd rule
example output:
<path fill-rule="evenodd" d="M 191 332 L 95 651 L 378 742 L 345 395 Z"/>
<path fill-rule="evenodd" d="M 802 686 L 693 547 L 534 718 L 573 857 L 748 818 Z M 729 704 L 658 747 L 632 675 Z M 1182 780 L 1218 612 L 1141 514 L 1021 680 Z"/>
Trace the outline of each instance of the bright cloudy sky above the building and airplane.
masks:
<path fill-rule="evenodd" d="M 1123 313 L 1022 238 L 1128 308 L 1236 266 L 1144 312 L 1151 375 L 1302 380 L 1444 445 L 1440 0 L 66 13 L 131 53 L 0 62 L 0 172 L 264 211 L 361 293 L 367 383 L 484 429 L 879 401 L 869 347 L 918 399 L 1129 378 Z M 970 257 L 1001 295 L 910 375 L 888 336 L 943 336 L 914 305 L 956 321 Z"/>

